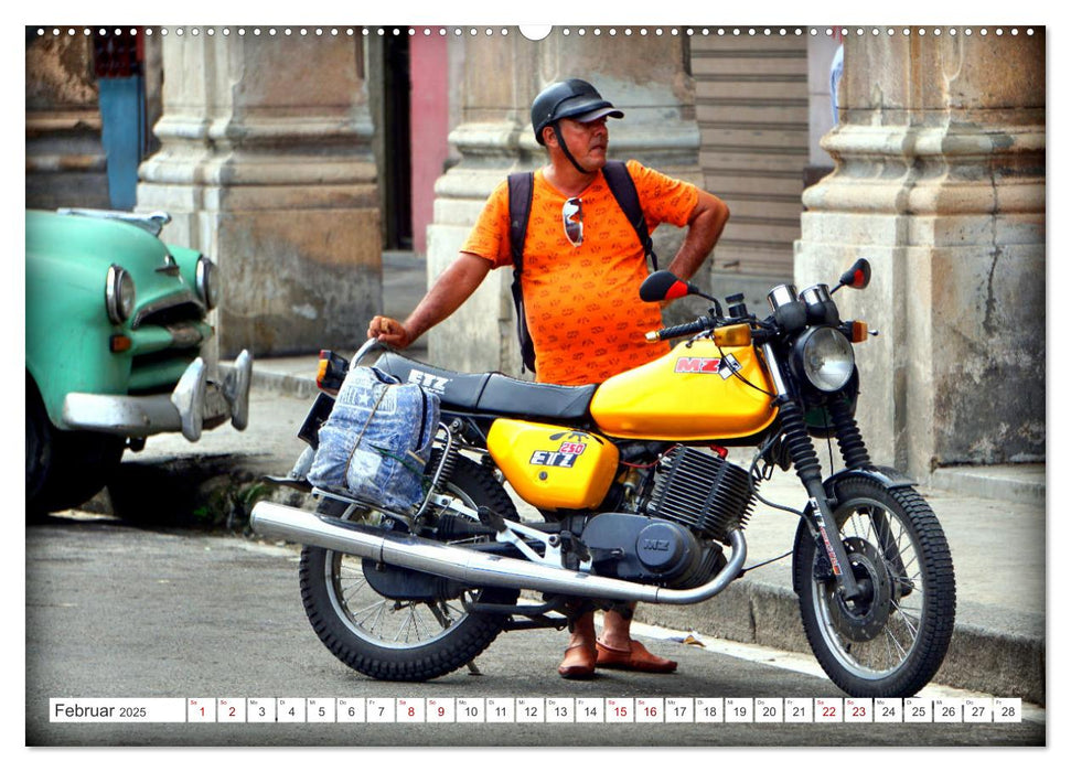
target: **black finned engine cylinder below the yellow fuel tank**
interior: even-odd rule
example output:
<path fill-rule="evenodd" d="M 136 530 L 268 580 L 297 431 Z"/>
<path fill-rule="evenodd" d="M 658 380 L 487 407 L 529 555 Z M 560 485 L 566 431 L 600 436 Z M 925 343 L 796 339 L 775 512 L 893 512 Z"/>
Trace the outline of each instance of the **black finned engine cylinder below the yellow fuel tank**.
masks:
<path fill-rule="evenodd" d="M 644 511 L 728 544 L 729 530 L 751 515 L 754 490 L 746 470 L 719 455 L 679 447 L 662 460 Z"/>

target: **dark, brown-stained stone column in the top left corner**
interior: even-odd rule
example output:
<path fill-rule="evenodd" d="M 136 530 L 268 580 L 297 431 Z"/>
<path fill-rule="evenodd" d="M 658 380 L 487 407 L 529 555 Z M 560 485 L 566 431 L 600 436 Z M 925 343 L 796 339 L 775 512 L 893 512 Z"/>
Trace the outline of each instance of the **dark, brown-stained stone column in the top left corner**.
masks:
<path fill-rule="evenodd" d="M 110 208 L 93 41 L 83 29 L 26 40 L 26 206 Z M 32 34 L 32 32 L 28 32 Z"/>

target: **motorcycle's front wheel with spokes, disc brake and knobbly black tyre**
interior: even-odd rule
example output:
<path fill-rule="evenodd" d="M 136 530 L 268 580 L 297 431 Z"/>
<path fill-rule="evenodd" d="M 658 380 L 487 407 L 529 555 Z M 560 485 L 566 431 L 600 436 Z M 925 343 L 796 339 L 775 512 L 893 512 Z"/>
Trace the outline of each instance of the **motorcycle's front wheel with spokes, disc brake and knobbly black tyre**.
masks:
<path fill-rule="evenodd" d="M 833 683 L 853 697 L 910 697 L 938 672 L 952 640 L 947 540 L 913 489 L 849 478 L 835 495 L 834 519 L 863 596 L 840 597 L 820 565 L 824 554 L 802 534 L 793 585 L 807 641 Z"/>

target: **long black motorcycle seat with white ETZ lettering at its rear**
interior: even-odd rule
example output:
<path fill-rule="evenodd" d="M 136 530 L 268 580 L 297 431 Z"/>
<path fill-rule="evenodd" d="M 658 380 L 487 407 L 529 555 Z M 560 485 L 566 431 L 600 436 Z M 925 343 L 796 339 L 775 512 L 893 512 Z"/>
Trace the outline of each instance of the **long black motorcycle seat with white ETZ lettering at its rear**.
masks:
<path fill-rule="evenodd" d="M 557 386 L 511 378 L 502 373 L 459 373 L 432 367 L 394 352 L 376 369 L 438 394 L 446 409 L 534 419 L 572 421 L 588 416 L 597 386 Z"/>

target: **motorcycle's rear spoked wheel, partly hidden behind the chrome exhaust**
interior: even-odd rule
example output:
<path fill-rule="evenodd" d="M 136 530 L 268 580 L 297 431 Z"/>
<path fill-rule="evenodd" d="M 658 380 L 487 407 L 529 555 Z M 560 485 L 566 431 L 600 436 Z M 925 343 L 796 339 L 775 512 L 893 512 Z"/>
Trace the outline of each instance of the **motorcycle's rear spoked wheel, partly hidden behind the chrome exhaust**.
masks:
<path fill-rule="evenodd" d="M 446 489 L 472 510 L 488 506 L 517 518 L 502 486 L 465 458 L 458 459 Z M 325 503 L 321 511 L 339 514 L 330 511 L 338 503 Z M 368 521 L 367 511 L 350 508 L 342 516 L 386 525 Z M 502 631 L 504 618 L 469 613 L 463 601 L 513 604 L 518 594 L 460 588 L 319 547 L 301 551 L 300 580 L 306 613 L 323 644 L 350 667 L 384 680 L 427 680 L 472 662 Z"/>

